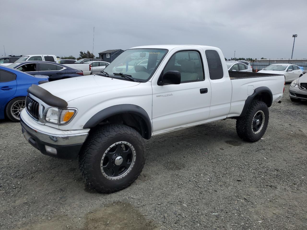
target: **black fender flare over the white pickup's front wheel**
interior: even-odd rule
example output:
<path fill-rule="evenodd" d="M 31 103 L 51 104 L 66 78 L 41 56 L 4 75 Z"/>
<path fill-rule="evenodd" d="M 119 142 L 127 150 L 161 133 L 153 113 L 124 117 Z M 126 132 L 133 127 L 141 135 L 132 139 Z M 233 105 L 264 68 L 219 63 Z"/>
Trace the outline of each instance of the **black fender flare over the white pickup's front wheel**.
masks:
<path fill-rule="evenodd" d="M 138 105 L 132 105 L 132 104 L 122 104 L 122 105 L 113 105 L 106 109 L 103 109 L 96 113 L 94 116 L 92 116 L 83 126 L 83 128 L 93 128 L 96 125 L 99 124 L 99 122 L 103 121 L 104 119 L 121 114 L 121 113 L 133 113 L 138 116 L 140 116 L 146 123 L 146 128 L 148 130 L 148 133 L 146 135 L 146 139 L 150 139 L 151 133 L 152 133 L 152 125 L 150 118 L 147 114 L 147 112 Z"/>

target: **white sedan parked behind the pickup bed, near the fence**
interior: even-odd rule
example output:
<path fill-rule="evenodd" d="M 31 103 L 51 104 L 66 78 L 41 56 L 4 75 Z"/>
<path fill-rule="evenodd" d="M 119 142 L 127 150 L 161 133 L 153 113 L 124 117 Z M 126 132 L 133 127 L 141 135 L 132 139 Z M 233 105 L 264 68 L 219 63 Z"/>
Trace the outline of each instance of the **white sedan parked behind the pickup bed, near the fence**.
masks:
<path fill-rule="evenodd" d="M 258 73 L 268 73 L 268 74 L 283 74 L 285 75 L 285 81 L 291 82 L 298 77 L 303 75 L 303 71 L 300 67 L 293 64 L 273 64 L 258 71 Z"/>

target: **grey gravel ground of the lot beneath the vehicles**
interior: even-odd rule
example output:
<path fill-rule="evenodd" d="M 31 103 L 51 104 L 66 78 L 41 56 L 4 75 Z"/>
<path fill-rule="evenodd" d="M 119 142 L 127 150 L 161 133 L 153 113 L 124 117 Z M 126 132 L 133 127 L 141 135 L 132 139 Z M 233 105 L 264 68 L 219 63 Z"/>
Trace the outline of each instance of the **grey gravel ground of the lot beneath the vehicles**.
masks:
<path fill-rule="evenodd" d="M 263 140 L 239 139 L 232 119 L 153 137 L 140 177 L 114 194 L 0 121 L 0 229 L 307 229 L 307 102 L 288 89 Z"/>

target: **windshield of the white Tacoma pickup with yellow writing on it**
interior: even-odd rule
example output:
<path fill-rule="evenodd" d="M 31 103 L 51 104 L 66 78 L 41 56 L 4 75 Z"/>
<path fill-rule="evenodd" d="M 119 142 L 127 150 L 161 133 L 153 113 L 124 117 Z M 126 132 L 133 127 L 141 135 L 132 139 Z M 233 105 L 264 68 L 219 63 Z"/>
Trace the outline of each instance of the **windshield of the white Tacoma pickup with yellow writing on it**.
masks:
<path fill-rule="evenodd" d="M 109 75 L 123 73 L 131 75 L 136 80 L 148 81 L 166 52 L 165 49 L 128 49 L 114 59 L 104 72 Z"/>

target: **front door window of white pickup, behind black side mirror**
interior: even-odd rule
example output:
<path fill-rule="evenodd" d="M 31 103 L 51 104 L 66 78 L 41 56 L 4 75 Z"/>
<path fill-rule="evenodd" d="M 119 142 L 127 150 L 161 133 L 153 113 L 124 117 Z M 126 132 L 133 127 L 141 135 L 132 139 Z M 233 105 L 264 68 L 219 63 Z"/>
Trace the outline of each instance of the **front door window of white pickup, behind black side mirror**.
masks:
<path fill-rule="evenodd" d="M 204 68 L 197 51 L 180 51 L 175 53 L 166 64 L 163 73 L 174 70 L 181 74 L 181 83 L 203 81 Z"/>

